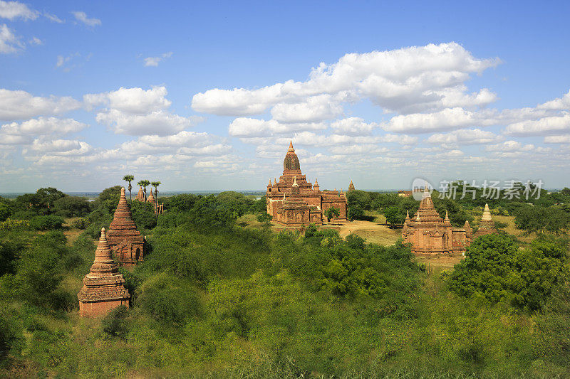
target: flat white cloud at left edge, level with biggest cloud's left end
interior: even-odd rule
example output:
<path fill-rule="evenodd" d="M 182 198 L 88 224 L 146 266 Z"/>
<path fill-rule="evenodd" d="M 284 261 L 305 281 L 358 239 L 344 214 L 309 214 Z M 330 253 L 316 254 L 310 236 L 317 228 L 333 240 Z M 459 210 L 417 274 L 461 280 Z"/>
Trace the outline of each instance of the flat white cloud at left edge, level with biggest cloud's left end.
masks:
<path fill-rule="evenodd" d="M 4 121 L 61 114 L 80 106 L 72 97 L 36 97 L 22 90 L 0 89 L 0 120 Z"/>

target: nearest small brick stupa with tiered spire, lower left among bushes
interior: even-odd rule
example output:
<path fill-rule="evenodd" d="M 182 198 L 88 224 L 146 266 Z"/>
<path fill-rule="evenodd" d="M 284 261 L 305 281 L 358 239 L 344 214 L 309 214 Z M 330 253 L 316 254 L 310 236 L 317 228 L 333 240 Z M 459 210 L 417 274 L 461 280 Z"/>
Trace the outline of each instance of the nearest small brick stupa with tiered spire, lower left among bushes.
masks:
<path fill-rule="evenodd" d="M 83 288 L 77 294 L 79 314 L 84 317 L 105 316 L 117 306 L 129 306 L 130 294 L 125 279 L 118 273 L 118 266 L 111 257 L 105 228 L 101 229 L 95 261 L 90 272 L 83 277 Z"/>

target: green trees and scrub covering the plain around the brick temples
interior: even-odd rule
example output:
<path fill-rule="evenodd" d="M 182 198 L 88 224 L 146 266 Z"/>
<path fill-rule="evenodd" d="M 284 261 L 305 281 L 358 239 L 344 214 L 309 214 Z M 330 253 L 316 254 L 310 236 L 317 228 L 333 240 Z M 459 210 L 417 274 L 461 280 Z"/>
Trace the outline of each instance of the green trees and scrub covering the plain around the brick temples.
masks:
<path fill-rule="evenodd" d="M 268 223 L 264 198 L 164 197 L 158 217 L 133 201 L 149 249 L 140 265 L 120 269 L 131 307 L 81 319 L 76 294 L 119 189 L 88 203 L 85 223 L 73 224 L 84 227 L 73 243 L 62 223 L 31 227 L 61 217 L 65 207 L 53 208 L 66 196 L 55 188 L 4 201 L 30 226 L 0 230 L 0 376 L 570 375 L 568 240 L 556 235 L 564 227 L 535 229 L 541 236 L 529 244 L 480 237 L 454 270 L 439 274 L 400 242 L 374 245 L 316 225 L 274 233 L 236 224 L 245 213 Z M 393 193 L 361 192 L 349 192 L 349 205 L 393 214 L 389 223 L 418 206 Z M 567 198 L 556 196 L 556 203 Z M 481 209 L 435 205 L 456 224 Z M 539 207 L 546 217 L 553 207 L 566 212 L 546 202 L 503 205 L 497 208 L 517 215 Z"/>

